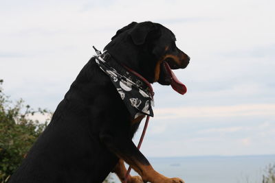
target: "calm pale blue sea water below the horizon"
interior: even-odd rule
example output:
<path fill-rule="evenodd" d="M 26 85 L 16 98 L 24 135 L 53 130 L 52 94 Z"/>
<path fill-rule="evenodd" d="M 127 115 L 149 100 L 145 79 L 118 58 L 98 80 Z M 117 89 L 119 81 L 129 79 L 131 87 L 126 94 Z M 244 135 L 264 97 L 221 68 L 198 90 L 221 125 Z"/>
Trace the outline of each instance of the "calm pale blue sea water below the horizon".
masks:
<path fill-rule="evenodd" d="M 275 155 L 268 156 L 199 156 L 148 158 L 156 171 L 186 183 L 261 183 L 268 164 L 275 164 Z M 133 170 L 131 175 L 137 175 Z M 112 181 L 120 182 L 116 175 Z"/>

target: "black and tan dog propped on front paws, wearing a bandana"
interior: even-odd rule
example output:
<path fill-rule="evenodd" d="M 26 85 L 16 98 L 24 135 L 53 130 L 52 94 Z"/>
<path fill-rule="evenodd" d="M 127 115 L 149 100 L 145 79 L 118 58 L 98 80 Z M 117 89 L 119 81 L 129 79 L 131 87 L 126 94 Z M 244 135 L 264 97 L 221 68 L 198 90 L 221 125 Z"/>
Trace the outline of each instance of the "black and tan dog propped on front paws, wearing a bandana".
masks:
<path fill-rule="evenodd" d="M 104 50 L 110 64 L 185 93 L 170 68 L 184 69 L 190 58 L 176 47 L 175 35 L 166 27 L 133 22 L 118 30 Z M 94 183 L 111 171 L 124 180 L 124 161 L 141 176 L 130 176 L 128 182 L 183 182 L 157 173 L 135 147 L 131 138 L 146 112 L 132 117 L 97 59 L 91 58 L 80 71 L 10 183 Z"/>

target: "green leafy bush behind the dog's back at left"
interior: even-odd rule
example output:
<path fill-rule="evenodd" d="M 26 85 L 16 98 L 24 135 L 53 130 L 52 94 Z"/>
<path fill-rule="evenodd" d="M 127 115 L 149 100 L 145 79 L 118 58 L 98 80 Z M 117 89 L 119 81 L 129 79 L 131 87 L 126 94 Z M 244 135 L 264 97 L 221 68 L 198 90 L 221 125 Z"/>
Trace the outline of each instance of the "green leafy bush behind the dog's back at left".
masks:
<path fill-rule="evenodd" d="M 22 99 L 13 103 L 3 93 L 2 84 L 0 80 L 0 182 L 7 182 L 45 129 L 50 112 L 41 108 L 34 110 Z M 45 120 L 32 119 L 36 114 L 41 114 Z"/>

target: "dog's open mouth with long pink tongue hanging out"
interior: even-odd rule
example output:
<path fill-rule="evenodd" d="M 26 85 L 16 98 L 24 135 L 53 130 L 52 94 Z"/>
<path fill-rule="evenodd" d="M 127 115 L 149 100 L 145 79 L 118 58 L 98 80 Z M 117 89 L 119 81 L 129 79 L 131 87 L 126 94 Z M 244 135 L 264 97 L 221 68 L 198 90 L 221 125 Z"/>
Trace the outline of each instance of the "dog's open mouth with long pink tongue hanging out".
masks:
<path fill-rule="evenodd" d="M 184 95 L 187 91 L 187 88 L 177 79 L 175 73 L 173 73 L 171 68 L 179 69 L 179 66 L 177 66 L 173 62 L 170 62 L 170 60 L 164 60 L 162 64 L 160 64 L 160 74 L 158 82 L 162 85 L 170 85 L 175 91 L 177 91 L 177 93 Z"/>

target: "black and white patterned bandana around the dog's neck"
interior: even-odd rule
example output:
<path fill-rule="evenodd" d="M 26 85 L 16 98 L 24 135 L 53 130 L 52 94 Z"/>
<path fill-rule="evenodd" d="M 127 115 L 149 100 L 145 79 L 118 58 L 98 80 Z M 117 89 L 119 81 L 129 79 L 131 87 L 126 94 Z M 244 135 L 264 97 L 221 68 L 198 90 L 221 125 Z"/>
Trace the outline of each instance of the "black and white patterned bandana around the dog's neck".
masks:
<path fill-rule="evenodd" d="M 140 77 L 128 71 L 124 66 L 115 62 L 111 55 L 96 50 L 96 63 L 104 73 L 109 75 L 111 82 L 118 90 L 122 101 L 129 110 L 132 119 L 141 115 L 153 117 L 153 95 L 150 87 Z"/>

